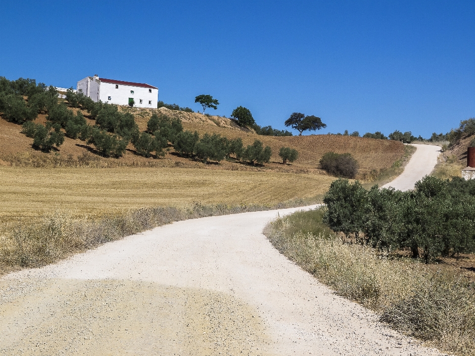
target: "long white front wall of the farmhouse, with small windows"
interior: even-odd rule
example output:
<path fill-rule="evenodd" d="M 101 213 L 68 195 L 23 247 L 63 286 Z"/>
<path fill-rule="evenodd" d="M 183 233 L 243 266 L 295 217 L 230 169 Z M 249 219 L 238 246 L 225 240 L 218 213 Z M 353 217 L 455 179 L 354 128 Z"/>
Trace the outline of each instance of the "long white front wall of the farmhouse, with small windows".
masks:
<path fill-rule="evenodd" d="M 119 84 L 119 88 L 116 89 L 115 86 L 116 84 L 100 82 L 99 99 L 109 104 L 129 105 L 129 98 L 134 98 L 135 107 L 156 109 L 158 89 L 151 89 L 152 92 L 150 93 L 148 88 Z M 131 93 L 131 90 L 134 93 Z M 140 103 L 141 99 L 142 104 Z M 150 103 L 148 103 L 149 101 Z"/>

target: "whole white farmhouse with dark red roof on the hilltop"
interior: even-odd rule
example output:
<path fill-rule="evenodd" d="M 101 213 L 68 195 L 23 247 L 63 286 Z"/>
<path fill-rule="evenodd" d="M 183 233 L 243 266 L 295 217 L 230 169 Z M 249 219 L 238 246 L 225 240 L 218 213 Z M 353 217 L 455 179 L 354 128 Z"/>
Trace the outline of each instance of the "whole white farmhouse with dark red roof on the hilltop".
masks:
<path fill-rule="evenodd" d="M 130 105 L 132 100 L 136 107 L 156 108 L 158 88 L 148 84 L 123 82 L 114 79 L 86 77 L 78 82 L 78 91 L 93 99 L 109 104 Z"/>

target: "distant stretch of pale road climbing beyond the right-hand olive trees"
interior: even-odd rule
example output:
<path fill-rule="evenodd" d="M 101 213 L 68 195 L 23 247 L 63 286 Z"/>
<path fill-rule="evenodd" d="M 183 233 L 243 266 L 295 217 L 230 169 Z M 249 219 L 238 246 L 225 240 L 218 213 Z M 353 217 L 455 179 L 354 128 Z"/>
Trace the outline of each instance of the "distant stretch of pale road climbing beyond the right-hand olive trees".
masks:
<path fill-rule="evenodd" d="M 404 168 L 404 172 L 382 188 L 393 187 L 398 190 L 414 189 L 414 184 L 429 175 L 437 164 L 440 147 L 435 145 L 411 144 L 417 148 Z"/>

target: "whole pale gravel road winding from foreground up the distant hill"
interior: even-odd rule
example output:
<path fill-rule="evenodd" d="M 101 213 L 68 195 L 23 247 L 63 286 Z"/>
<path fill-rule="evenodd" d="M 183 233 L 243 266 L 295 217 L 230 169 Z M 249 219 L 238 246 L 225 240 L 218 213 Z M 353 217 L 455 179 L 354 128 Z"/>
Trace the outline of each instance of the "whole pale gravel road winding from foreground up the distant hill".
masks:
<path fill-rule="evenodd" d="M 390 185 L 430 173 L 422 146 Z M 265 224 L 301 209 L 177 222 L 10 273 L 0 355 L 439 355 L 272 247 Z"/>

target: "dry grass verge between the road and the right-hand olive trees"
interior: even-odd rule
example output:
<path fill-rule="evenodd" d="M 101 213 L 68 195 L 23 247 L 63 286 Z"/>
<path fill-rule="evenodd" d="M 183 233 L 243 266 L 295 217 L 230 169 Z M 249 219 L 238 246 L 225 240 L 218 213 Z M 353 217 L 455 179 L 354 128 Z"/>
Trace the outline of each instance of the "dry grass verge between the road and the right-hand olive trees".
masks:
<path fill-rule="evenodd" d="M 474 282 L 453 269 L 343 243 L 322 223 L 323 214 L 291 214 L 269 223 L 264 234 L 289 260 L 396 330 L 446 352 L 475 355 Z"/>

